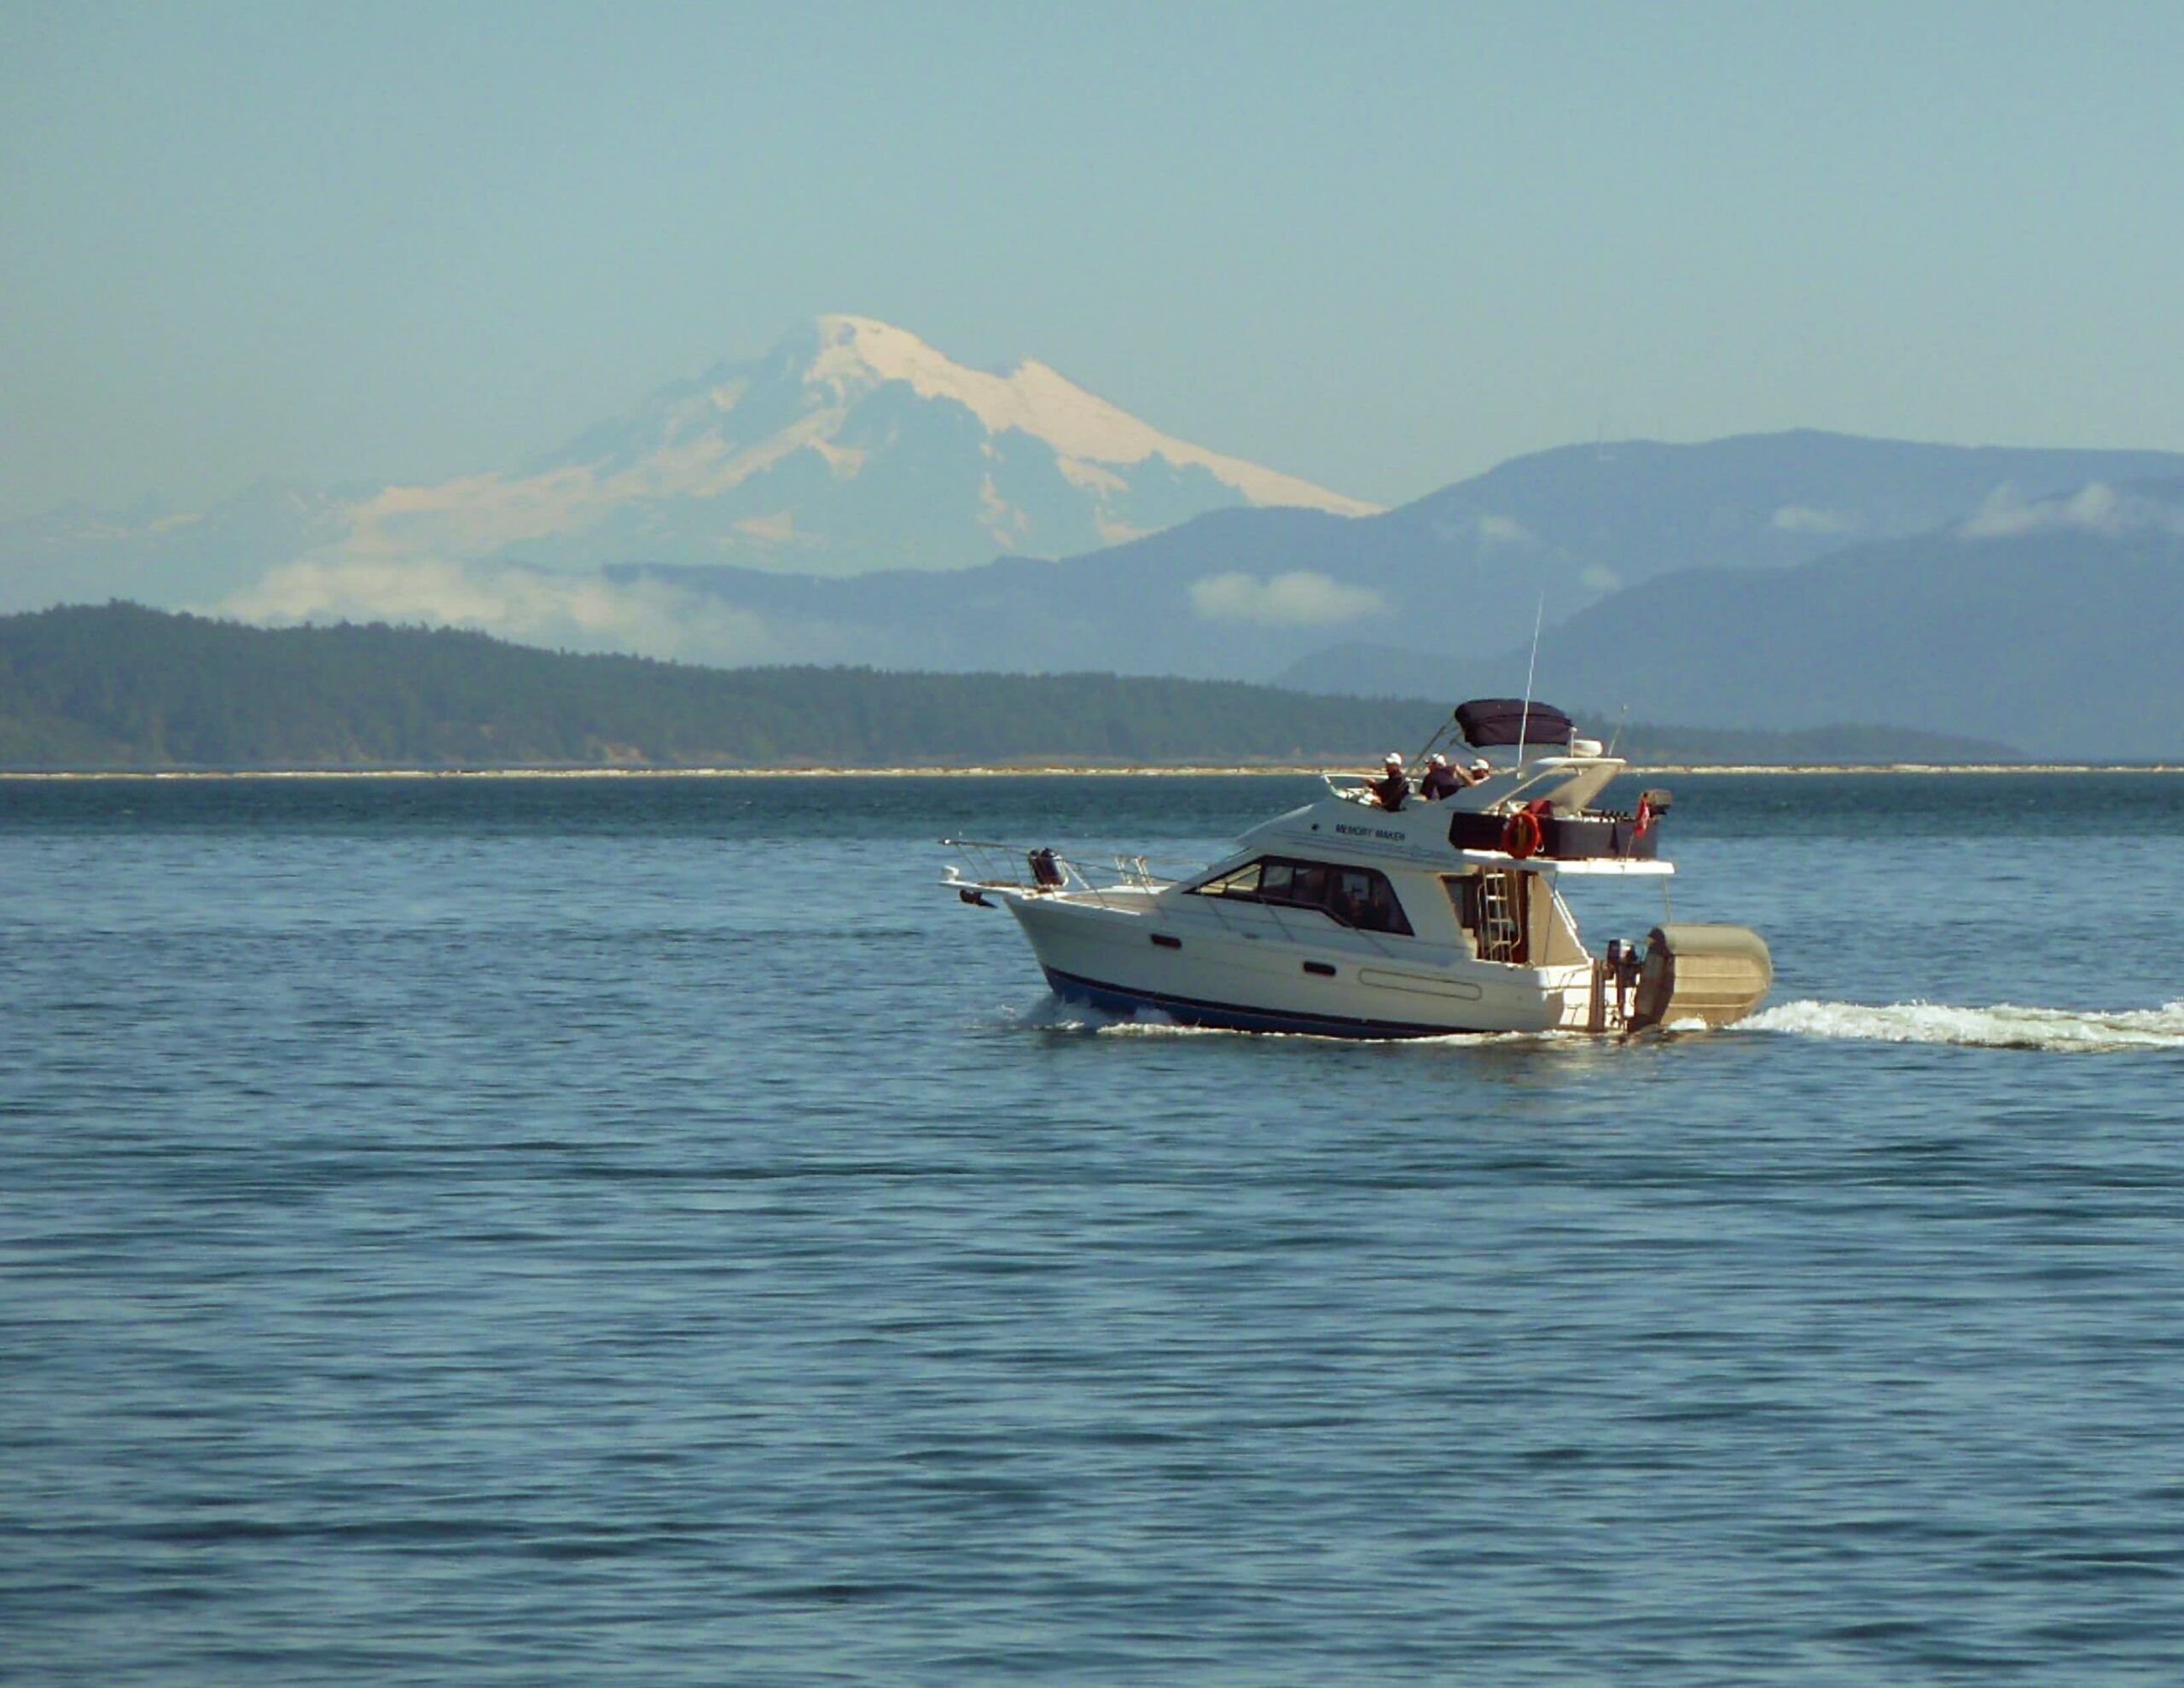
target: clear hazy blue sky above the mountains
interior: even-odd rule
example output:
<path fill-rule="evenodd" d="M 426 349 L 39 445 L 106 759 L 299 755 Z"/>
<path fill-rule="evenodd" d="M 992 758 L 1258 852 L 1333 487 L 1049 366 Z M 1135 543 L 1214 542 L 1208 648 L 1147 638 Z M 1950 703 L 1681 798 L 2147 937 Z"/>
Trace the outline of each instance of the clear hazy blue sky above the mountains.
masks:
<path fill-rule="evenodd" d="M 1382 502 L 2184 448 L 2177 4 L 0 0 L 0 515 L 559 443 L 821 310 Z"/>

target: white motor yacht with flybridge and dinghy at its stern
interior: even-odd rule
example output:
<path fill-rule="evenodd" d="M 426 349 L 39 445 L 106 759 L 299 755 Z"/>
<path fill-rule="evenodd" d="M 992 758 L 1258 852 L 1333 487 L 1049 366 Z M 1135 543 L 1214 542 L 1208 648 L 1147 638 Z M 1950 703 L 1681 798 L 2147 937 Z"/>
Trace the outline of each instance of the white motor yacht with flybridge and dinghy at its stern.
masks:
<path fill-rule="evenodd" d="M 1621 1035 L 1760 1005 L 1773 963 L 1749 928 L 1664 919 L 1642 950 L 1601 954 L 1577 932 L 1566 889 L 1675 871 L 1660 856 L 1666 793 L 1594 808 L 1625 764 L 1542 703 L 1479 699 L 1452 725 L 1481 760 L 1503 756 L 1439 801 L 1409 780 L 1324 775 L 1315 801 L 1195 873 L 1120 858 L 1094 878 L 1051 847 L 948 839 L 963 860 L 946 884 L 1009 908 L 1053 991 L 1112 1015 L 1328 1037 Z"/>

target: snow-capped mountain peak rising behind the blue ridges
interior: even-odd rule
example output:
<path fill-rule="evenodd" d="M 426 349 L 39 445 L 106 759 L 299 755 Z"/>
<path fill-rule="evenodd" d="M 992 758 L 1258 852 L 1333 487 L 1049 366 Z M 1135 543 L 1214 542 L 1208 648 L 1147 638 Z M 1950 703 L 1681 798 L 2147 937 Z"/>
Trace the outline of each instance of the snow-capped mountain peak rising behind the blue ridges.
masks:
<path fill-rule="evenodd" d="M 0 528 L 0 607 L 207 603 L 269 570 L 734 563 L 797 574 L 1066 557 L 1236 504 L 1372 507 L 1162 435 L 1042 362 L 965 369 L 869 317 L 666 387 L 513 472 L 352 496 L 253 489 L 201 515 Z M 293 585 L 293 579 L 290 579 Z"/>

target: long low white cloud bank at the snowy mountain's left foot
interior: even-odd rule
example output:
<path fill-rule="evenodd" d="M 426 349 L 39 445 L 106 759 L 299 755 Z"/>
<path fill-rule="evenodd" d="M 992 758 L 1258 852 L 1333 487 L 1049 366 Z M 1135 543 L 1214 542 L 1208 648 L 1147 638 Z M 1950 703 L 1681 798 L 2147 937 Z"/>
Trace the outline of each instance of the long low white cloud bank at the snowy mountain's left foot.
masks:
<path fill-rule="evenodd" d="M 339 620 L 461 627 L 520 644 L 723 666 L 791 659 L 764 618 L 701 592 L 489 563 L 299 561 L 214 605 L 214 614 L 273 627 Z"/>

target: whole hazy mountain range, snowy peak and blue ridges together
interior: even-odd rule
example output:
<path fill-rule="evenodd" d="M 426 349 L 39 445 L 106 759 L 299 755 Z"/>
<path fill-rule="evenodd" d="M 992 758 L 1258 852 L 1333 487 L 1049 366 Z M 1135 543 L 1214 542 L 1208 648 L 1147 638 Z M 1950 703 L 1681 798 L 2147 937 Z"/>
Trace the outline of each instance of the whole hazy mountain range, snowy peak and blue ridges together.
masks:
<path fill-rule="evenodd" d="M 0 609 L 129 596 L 690 662 L 1116 670 L 2175 756 L 2184 454 L 1601 441 L 1391 511 L 1037 362 L 823 317 L 502 474 L 0 528 Z"/>

